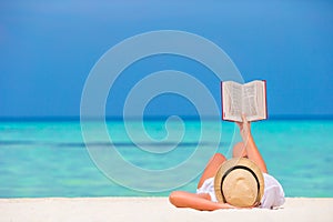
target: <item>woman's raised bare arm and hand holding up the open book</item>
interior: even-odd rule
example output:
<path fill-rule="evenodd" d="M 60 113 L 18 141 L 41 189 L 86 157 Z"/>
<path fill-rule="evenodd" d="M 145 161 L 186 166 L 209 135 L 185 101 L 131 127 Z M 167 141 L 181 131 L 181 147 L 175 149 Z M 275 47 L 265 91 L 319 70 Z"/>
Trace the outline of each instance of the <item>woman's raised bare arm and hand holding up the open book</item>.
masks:
<path fill-rule="evenodd" d="M 268 173 L 266 164 L 259 152 L 254 139 L 251 133 L 251 123 L 246 120 L 246 117 L 242 115 L 243 122 L 238 122 L 240 128 L 240 132 L 243 139 L 243 143 L 245 145 L 245 150 L 248 153 L 248 158 L 256 163 L 256 165 L 261 169 L 262 172 Z"/>

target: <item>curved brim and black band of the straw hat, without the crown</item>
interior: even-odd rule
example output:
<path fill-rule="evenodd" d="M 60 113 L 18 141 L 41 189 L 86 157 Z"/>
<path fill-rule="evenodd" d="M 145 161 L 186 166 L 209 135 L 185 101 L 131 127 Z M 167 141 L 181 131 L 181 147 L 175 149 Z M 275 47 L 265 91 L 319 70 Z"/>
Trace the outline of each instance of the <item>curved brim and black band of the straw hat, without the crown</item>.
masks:
<path fill-rule="evenodd" d="M 249 170 L 253 175 L 255 175 L 256 181 L 259 183 L 259 190 L 258 190 L 258 195 L 256 195 L 256 201 L 260 202 L 263 193 L 264 193 L 264 179 L 262 171 L 260 168 L 251 160 L 246 158 L 234 158 L 231 160 L 225 161 L 224 163 L 221 164 L 219 168 L 215 178 L 214 178 L 214 190 L 215 190 L 215 195 L 219 202 L 225 203 L 225 199 L 223 196 L 223 191 L 222 191 L 222 180 L 224 179 L 225 173 L 231 172 L 233 169 L 236 168 L 243 168 L 245 170 Z M 232 203 L 230 203 L 232 204 Z"/>

